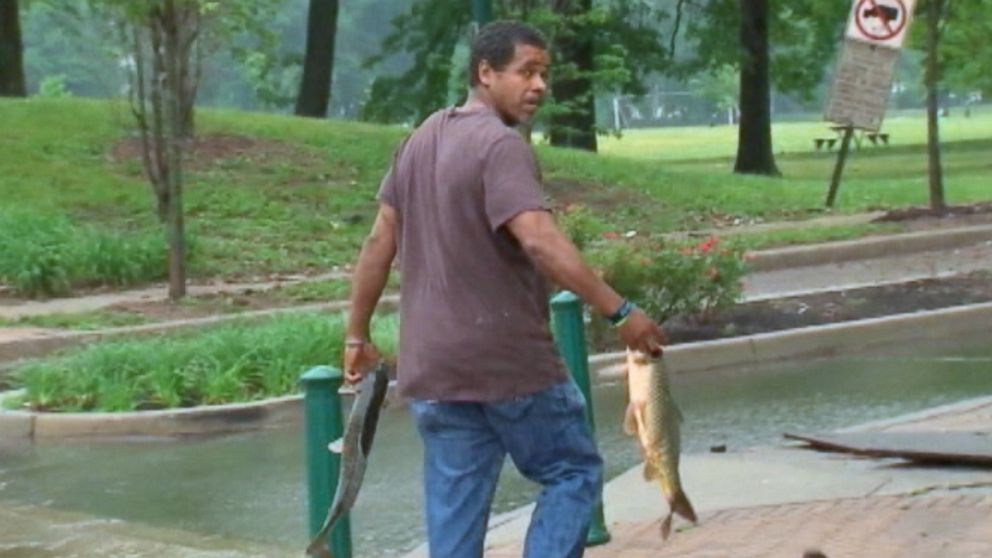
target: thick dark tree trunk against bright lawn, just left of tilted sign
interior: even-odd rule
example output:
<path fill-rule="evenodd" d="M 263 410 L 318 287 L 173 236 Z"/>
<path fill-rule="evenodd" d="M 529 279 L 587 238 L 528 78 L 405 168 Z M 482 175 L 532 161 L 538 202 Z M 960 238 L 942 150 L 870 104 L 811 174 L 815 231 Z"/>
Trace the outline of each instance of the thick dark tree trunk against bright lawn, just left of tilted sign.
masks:
<path fill-rule="evenodd" d="M 772 153 L 771 82 L 768 75 L 768 0 L 740 0 L 741 114 L 734 172 L 778 176 Z"/>

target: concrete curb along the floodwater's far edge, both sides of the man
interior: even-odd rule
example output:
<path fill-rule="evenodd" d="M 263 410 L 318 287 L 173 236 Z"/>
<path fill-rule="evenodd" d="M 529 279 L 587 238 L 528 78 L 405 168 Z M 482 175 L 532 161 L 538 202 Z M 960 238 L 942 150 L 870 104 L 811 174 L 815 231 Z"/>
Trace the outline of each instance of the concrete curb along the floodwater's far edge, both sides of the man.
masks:
<path fill-rule="evenodd" d="M 992 325 L 992 303 L 814 326 L 748 337 L 670 347 L 666 362 L 674 373 L 749 366 L 798 358 L 819 358 L 954 337 Z M 984 329 L 982 329 L 984 331 Z M 599 380 L 623 375 L 625 353 L 589 358 L 602 367 Z M 192 436 L 289 424 L 300 420 L 301 396 L 247 404 L 133 413 L 34 413 L 0 410 L 0 439 Z M 905 420 L 905 417 L 901 417 Z"/>

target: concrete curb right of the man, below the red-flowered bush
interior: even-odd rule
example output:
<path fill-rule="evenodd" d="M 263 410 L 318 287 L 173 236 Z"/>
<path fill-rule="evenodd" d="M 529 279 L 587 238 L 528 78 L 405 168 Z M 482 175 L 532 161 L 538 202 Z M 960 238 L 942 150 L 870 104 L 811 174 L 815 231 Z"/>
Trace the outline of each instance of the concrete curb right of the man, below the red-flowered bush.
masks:
<path fill-rule="evenodd" d="M 881 318 L 804 327 L 747 337 L 686 343 L 669 347 L 665 361 L 676 373 L 747 368 L 798 358 L 851 354 L 914 341 L 953 338 L 987 331 L 992 326 L 992 303 L 897 314 Z M 591 365 L 602 366 L 599 377 L 623 375 L 623 352 L 595 355 Z"/>

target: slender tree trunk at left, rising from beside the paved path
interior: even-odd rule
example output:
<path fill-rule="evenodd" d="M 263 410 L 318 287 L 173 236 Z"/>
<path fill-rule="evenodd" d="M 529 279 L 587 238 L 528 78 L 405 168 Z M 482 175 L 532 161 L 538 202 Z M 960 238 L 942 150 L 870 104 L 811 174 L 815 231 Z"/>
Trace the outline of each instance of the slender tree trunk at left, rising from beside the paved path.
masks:
<path fill-rule="evenodd" d="M 169 298 L 186 296 L 186 235 L 183 223 L 182 144 L 186 123 L 180 99 L 183 97 L 182 42 L 183 25 L 175 0 L 165 0 L 162 12 L 164 28 L 166 157 L 168 171 L 168 212 L 166 231 L 169 241 Z"/>

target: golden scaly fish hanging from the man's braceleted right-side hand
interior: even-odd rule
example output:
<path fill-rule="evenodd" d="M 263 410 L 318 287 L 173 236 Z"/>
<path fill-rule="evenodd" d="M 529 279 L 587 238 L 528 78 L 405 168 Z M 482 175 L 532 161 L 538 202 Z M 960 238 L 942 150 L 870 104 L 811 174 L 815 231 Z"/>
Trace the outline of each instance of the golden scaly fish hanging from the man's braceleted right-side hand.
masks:
<path fill-rule="evenodd" d="M 627 388 L 630 403 L 624 430 L 640 441 L 644 478 L 658 481 L 668 501 L 668 515 L 661 522 L 661 536 L 667 539 L 672 532 L 673 513 L 696 522 L 696 512 L 679 479 L 682 414 L 672 400 L 664 365 L 656 365 L 644 353 L 631 349 L 627 349 Z"/>

